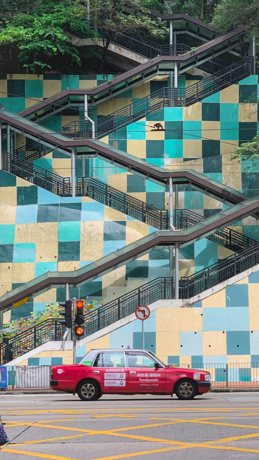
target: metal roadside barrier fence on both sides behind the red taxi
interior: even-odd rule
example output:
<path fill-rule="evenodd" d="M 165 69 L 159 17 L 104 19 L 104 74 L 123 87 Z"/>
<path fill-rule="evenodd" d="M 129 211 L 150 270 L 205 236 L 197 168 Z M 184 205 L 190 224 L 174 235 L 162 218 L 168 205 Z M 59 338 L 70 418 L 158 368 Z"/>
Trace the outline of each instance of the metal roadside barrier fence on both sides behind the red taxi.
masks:
<path fill-rule="evenodd" d="M 173 366 L 173 365 L 172 365 Z M 192 368 L 210 372 L 212 387 L 259 387 L 259 362 L 221 364 L 180 364 L 176 368 Z M 51 366 L 7 366 L 8 389 L 50 388 Z"/>

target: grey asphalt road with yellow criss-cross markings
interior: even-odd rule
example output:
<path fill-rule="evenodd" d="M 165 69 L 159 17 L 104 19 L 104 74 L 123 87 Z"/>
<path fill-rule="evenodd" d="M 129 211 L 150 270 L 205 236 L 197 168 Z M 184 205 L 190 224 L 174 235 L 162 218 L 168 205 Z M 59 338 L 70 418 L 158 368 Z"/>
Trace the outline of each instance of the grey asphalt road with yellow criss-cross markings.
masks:
<path fill-rule="evenodd" d="M 176 397 L 0 394 L 1 460 L 259 459 L 259 392 Z"/>

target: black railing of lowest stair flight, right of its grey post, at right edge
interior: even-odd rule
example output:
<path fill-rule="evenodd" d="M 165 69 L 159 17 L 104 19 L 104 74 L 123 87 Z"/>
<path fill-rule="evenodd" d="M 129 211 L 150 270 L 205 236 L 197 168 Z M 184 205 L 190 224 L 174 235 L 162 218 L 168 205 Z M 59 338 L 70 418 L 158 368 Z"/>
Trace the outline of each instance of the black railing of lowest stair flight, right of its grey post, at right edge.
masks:
<path fill-rule="evenodd" d="M 259 242 L 238 251 L 191 276 L 181 276 L 181 299 L 189 299 L 206 289 L 238 275 L 259 263 Z"/>

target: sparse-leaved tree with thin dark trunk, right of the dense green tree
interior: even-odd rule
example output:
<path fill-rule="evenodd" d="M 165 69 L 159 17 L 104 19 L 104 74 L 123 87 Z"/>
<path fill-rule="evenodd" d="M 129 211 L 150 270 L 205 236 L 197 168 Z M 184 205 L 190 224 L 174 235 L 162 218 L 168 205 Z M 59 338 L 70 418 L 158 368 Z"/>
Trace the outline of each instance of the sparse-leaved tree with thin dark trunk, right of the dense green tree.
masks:
<path fill-rule="evenodd" d="M 127 13 L 129 7 L 126 0 L 120 0 L 119 9 L 116 0 L 90 0 L 90 23 L 93 23 L 103 42 L 103 56 L 99 71 L 102 72 L 106 60 L 108 46 L 118 35 L 149 34 L 157 38 L 165 34 L 160 19 L 153 21 L 148 16 L 148 10 L 140 5 L 138 0 L 131 0 L 134 14 Z"/>

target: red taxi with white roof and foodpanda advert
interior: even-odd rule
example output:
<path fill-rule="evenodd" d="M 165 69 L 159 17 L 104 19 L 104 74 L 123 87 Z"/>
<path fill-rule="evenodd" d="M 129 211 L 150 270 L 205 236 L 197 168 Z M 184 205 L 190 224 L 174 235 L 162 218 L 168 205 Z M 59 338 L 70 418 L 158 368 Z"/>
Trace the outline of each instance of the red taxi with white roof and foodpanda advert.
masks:
<path fill-rule="evenodd" d="M 77 393 L 82 401 L 103 394 L 172 395 L 193 399 L 211 389 L 211 375 L 200 369 L 166 365 L 147 350 L 91 350 L 78 364 L 53 366 L 51 388 Z"/>

